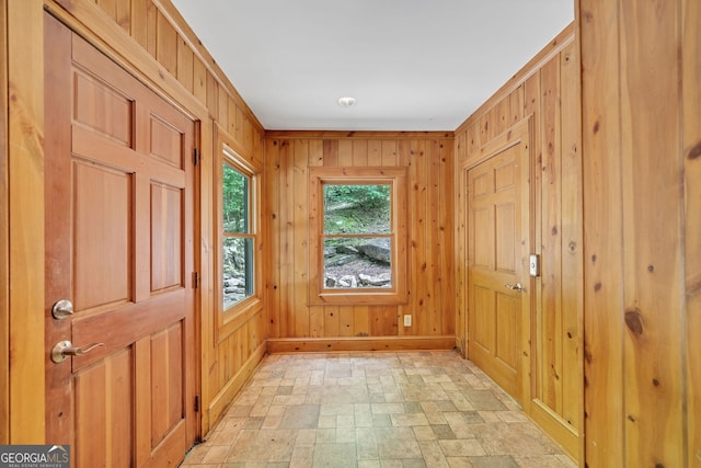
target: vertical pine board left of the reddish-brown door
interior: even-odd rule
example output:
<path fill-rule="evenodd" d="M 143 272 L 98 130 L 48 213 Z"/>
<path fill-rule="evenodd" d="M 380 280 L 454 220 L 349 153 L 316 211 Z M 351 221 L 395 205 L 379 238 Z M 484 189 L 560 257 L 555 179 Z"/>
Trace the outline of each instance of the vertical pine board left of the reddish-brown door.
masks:
<path fill-rule="evenodd" d="M 10 444 L 44 443 L 44 9 L 8 1 Z M 32 196 L 27 196 L 32 187 Z M 28 333 L 39 339 L 28 340 Z M 42 363 L 42 364 L 38 364 Z"/>

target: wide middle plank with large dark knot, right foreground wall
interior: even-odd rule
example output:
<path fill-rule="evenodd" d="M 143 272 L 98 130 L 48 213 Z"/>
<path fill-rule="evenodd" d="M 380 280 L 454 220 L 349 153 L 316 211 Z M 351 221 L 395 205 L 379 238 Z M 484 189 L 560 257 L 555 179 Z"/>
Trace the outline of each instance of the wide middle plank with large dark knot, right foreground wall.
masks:
<path fill-rule="evenodd" d="M 619 7 L 630 466 L 682 466 L 685 458 L 679 4 L 641 8 L 621 0 Z M 667 71 L 660 76 L 651 64 Z"/>

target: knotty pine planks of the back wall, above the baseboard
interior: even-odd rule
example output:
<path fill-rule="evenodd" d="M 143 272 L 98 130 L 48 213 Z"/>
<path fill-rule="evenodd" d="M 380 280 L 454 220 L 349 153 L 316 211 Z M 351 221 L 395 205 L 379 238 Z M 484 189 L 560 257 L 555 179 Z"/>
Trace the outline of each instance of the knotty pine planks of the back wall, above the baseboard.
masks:
<path fill-rule="evenodd" d="M 266 214 L 271 227 L 269 250 L 273 269 L 267 272 L 268 331 L 271 339 L 291 338 L 338 338 L 338 336 L 397 336 L 403 333 L 417 335 L 445 335 L 446 329 L 455 330 L 453 317 L 441 310 L 451 294 L 452 286 L 444 285 L 443 278 L 452 269 L 448 260 L 450 242 L 441 242 L 445 230 L 452 230 L 449 216 L 439 218 L 441 213 L 450 213 L 452 206 L 451 183 L 444 183 L 443 172 L 452 167 L 452 141 L 440 134 L 440 138 L 426 140 L 393 139 L 393 134 L 366 134 L 369 138 L 345 138 L 342 134 L 323 133 L 324 138 L 314 138 L 313 133 L 276 132 L 275 138 L 265 139 L 266 180 L 275 185 L 277 194 L 268 194 Z M 311 137 L 311 138 L 308 138 Z M 427 153 L 426 148 L 429 148 Z M 446 149 L 449 148 L 449 149 Z M 404 152 L 404 153 L 402 153 Z M 420 155 L 421 153 L 421 155 Z M 411 290 L 425 293 L 411 297 L 407 304 L 378 307 L 367 301 L 333 304 L 322 307 L 309 305 L 308 266 L 310 226 L 309 216 L 315 210 L 308 206 L 309 170 L 314 167 L 354 168 L 416 165 L 415 175 L 410 178 L 406 213 L 418 213 L 426 222 L 411 228 L 414 249 L 420 263 L 410 267 Z M 411 171 L 410 171 L 411 172 Z M 449 179 L 452 175 L 449 176 Z M 429 180 L 432 181 L 429 183 Z M 446 208 L 446 205 L 448 208 Z M 429 210 L 428 207 L 432 206 Z M 414 216 L 414 215 L 411 215 Z M 418 215 L 415 215 L 418 216 Z M 430 220 L 433 219 L 433 220 Z M 267 221 L 266 221 L 267 222 Z M 410 243 L 411 244 L 411 243 Z M 411 249 L 411 247 L 409 247 Z M 405 248 L 406 249 L 406 248 Z M 405 250 L 404 250 L 405 252 Z M 404 253 L 402 253 L 404 254 Z M 428 259 L 433 265 L 428 267 Z M 422 266 L 425 264 L 425 267 Z M 428 271 L 432 279 L 428 282 Z M 414 279 L 415 278 L 415 279 Z M 415 282 L 423 282 L 417 285 Z M 451 299 L 450 299 L 451 301 Z M 398 327 L 403 313 L 413 313 L 412 328 Z M 445 322 L 449 322 L 446 324 Z"/>

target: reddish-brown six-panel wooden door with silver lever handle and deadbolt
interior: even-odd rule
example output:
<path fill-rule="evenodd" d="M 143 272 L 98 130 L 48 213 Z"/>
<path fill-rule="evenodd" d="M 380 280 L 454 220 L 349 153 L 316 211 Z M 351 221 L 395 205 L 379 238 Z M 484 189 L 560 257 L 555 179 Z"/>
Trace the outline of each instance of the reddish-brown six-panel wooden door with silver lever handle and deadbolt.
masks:
<path fill-rule="evenodd" d="M 197 436 L 195 124 L 45 25 L 46 441 L 76 467 L 176 466 Z M 66 340 L 100 345 L 55 363 Z"/>

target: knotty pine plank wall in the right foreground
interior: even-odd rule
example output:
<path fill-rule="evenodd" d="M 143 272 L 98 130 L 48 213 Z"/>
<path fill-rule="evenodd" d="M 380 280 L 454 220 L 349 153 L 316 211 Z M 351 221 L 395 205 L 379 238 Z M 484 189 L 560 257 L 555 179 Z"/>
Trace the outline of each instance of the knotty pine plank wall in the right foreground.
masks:
<path fill-rule="evenodd" d="M 579 0 L 588 466 L 701 466 L 701 8 Z"/>

